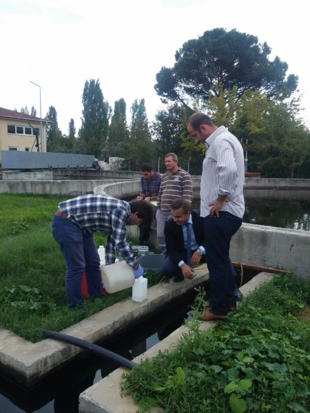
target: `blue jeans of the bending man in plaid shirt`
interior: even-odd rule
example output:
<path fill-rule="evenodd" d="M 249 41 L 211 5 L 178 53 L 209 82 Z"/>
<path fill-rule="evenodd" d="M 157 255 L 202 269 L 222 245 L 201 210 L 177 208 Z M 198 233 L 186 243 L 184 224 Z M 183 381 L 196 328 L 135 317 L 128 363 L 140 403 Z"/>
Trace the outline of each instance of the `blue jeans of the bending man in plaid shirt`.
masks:
<path fill-rule="evenodd" d="M 100 297 L 102 293 L 100 259 L 90 233 L 84 233 L 81 228 L 70 220 L 59 215 L 52 219 L 52 236 L 58 242 L 67 271 L 65 273 L 65 290 L 68 306 L 81 306 L 81 283 L 85 271 L 87 290 L 90 297 Z"/>

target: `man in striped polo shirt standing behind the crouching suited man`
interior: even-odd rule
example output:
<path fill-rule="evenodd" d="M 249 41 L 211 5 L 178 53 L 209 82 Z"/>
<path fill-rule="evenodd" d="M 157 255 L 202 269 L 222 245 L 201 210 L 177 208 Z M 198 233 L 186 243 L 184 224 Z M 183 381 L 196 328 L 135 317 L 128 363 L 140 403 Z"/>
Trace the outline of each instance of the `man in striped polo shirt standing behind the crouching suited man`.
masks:
<path fill-rule="evenodd" d="M 183 198 L 190 204 L 193 199 L 192 176 L 178 167 L 178 157 L 175 153 L 167 153 L 165 167 L 167 172 L 161 180 L 156 206 L 157 239 L 162 254 L 166 252 L 165 222 L 172 218 L 172 202 L 178 198 Z"/>

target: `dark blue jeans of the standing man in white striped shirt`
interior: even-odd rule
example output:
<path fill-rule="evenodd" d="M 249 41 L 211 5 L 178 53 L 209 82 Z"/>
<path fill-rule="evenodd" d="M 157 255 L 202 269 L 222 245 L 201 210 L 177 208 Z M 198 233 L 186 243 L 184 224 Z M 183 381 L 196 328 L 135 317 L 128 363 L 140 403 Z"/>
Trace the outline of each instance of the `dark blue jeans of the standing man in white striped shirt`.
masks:
<path fill-rule="evenodd" d="M 227 211 L 220 211 L 219 215 L 205 217 L 205 259 L 211 286 L 209 310 L 217 315 L 226 315 L 227 308 L 236 307 L 229 245 L 231 237 L 242 224 L 242 218 Z"/>

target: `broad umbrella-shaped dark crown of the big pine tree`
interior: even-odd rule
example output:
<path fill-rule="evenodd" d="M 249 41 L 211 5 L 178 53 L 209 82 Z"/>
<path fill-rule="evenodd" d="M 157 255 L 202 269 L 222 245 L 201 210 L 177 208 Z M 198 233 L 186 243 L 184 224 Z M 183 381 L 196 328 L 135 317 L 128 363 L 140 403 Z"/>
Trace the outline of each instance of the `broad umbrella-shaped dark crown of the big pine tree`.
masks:
<path fill-rule="evenodd" d="M 276 56 L 269 60 L 271 48 L 258 38 L 236 29 L 207 30 L 176 51 L 174 67 L 162 67 L 156 74 L 156 92 L 163 103 L 179 101 L 187 106 L 190 98 L 208 100 L 217 83 L 224 89 L 238 88 L 238 98 L 245 90 L 262 91 L 267 98 L 287 98 L 296 90 L 298 76 L 286 78 L 287 63 Z M 218 96 L 218 95 L 216 95 Z"/>

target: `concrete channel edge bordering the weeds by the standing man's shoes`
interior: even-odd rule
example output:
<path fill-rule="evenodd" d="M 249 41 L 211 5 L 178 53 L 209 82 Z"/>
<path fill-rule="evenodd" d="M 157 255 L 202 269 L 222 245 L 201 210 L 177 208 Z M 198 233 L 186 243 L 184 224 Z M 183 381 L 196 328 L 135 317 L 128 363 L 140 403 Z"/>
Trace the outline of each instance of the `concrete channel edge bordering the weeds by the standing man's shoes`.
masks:
<path fill-rule="evenodd" d="M 259 284 L 268 282 L 271 278 L 272 275 L 268 273 L 256 275 L 250 282 L 240 288 L 243 297 L 247 297 Z M 200 328 L 207 330 L 207 328 L 210 328 L 212 325 L 214 324 L 206 322 L 202 323 Z M 140 363 L 142 360 L 155 357 L 159 350 L 162 352 L 172 350 L 177 346 L 179 339 L 186 331 L 187 329 L 185 327 L 178 328 L 178 330 L 156 344 L 156 346 L 136 357 L 133 360 L 134 363 Z M 138 403 L 132 399 L 132 396 L 123 396 L 123 398 L 121 398 L 121 375 L 125 371 L 124 368 L 118 368 L 81 393 L 79 398 L 79 413 L 136 413 L 139 410 L 139 406 Z M 164 410 L 158 407 L 154 407 L 151 410 L 151 413 L 159 412 L 164 412 Z"/>

